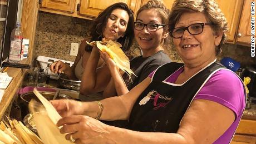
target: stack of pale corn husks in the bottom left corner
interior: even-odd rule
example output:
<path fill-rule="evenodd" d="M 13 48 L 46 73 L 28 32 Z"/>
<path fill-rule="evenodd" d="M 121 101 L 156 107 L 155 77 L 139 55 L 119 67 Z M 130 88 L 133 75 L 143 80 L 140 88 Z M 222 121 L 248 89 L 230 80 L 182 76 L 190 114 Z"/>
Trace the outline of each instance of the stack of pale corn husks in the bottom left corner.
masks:
<path fill-rule="evenodd" d="M 9 120 L 0 122 L 0 144 L 41 144 L 41 139 L 29 130 L 22 122 L 17 120 Z"/>

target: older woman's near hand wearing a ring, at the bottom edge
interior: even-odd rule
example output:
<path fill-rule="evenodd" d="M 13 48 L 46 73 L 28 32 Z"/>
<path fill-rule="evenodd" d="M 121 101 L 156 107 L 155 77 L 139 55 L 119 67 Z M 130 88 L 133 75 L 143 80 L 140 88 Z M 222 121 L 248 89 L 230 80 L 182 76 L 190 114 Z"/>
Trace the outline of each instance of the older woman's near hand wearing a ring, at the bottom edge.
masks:
<path fill-rule="evenodd" d="M 63 117 L 57 122 L 57 126 L 63 126 L 60 132 L 69 133 L 66 140 L 70 140 L 72 135 L 75 143 L 115 143 L 107 138 L 110 126 L 89 116 Z"/>

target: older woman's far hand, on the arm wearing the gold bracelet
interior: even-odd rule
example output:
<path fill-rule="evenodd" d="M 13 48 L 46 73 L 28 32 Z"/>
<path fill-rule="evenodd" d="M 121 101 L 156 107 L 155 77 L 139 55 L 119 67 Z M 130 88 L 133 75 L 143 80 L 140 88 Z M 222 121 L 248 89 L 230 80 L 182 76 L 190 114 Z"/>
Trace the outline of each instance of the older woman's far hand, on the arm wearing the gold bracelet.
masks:
<path fill-rule="evenodd" d="M 83 115 L 83 105 L 80 101 L 62 99 L 52 100 L 50 102 L 62 117 L 72 115 Z"/>

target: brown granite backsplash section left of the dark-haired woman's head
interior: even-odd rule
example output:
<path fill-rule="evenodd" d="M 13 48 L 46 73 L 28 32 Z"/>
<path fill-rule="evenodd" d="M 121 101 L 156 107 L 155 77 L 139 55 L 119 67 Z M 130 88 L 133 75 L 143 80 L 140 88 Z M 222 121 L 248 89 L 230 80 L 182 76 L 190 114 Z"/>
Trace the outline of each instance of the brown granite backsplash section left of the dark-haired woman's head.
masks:
<path fill-rule="evenodd" d="M 70 56 L 71 43 L 80 43 L 88 37 L 93 21 L 81 18 L 39 12 L 36 28 L 35 50 L 37 56 L 75 61 Z"/>

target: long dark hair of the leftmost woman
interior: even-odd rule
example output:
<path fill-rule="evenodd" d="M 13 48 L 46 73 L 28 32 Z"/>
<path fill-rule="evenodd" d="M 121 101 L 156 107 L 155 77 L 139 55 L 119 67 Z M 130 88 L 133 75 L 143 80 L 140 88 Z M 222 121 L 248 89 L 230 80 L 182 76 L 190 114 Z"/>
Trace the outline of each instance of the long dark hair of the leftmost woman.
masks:
<path fill-rule="evenodd" d="M 127 29 L 125 31 L 125 36 L 124 37 L 120 37 L 119 39 L 117 39 L 117 42 L 122 44 L 122 50 L 125 51 L 129 51 L 131 44 L 132 44 L 132 40 L 134 39 L 134 14 L 132 12 L 132 10 L 127 6 L 127 4 L 125 3 L 115 3 L 112 4 L 111 6 L 107 7 L 96 19 L 95 22 L 92 26 L 92 30 L 91 30 L 91 42 L 92 41 L 101 41 L 102 40 L 102 35 L 104 32 L 104 29 L 106 27 L 107 24 L 107 20 L 110 17 L 110 14 L 112 13 L 112 11 L 114 11 L 115 9 L 124 9 L 128 15 L 129 15 L 129 21 L 127 23 Z M 87 44 L 87 46 L 85 47 L 85 51 L 90 52 L 92 51 L 92 47 Z"/>

